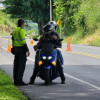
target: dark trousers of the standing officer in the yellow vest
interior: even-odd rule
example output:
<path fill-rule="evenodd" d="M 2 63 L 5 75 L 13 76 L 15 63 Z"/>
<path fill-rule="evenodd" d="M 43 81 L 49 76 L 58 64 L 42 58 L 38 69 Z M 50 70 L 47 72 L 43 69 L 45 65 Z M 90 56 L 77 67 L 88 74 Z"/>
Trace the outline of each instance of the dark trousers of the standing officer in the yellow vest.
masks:
<path fill-rule="evenodd" d="M 13 78 L 14 83 L 21 82 L 26 66 L 26 52 L 23 47 L 15 48 Z"/>

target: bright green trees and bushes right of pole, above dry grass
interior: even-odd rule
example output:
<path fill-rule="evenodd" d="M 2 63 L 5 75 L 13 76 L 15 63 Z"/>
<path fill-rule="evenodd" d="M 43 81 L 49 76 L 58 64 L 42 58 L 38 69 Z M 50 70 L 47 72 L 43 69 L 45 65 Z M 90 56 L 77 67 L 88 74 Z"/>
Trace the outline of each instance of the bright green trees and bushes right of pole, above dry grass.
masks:
<path fill-rule="evenodd" d="M 62 34 L 81 39 L 95 33 L 100 28 L 99 4 L 100 0 L 54 0 L 54 19 L 62 20 Z"/>

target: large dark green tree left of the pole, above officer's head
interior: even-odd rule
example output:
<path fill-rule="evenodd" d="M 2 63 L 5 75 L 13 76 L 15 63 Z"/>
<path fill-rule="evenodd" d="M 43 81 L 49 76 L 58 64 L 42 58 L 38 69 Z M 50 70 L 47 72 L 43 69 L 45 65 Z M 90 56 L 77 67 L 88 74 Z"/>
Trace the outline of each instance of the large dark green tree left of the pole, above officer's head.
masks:
<path fill-rule="evenodd" d="M 6 12 L 13 18 L 30 19 L 38 23 L 39 33 L 42 34 L 43 26 L 49 21 L 50 0 L 5 0 Z"/>

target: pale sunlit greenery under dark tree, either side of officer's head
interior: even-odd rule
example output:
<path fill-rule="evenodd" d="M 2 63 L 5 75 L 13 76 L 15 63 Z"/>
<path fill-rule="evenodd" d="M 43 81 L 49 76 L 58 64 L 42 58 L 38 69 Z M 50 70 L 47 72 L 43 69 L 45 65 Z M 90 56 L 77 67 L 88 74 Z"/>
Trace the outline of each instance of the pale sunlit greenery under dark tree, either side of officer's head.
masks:
<path fill-rule="evenodd" d="M 0 10 L 0 35 L 10 35 L 14 28 L 17 27 L 17 20 L 11 18 L 10 14 L 7 14 Z M 38 33 L 38 25 L 31 20 L 25 20 L 25 30 L 27 35 L 32 33 Z"/>

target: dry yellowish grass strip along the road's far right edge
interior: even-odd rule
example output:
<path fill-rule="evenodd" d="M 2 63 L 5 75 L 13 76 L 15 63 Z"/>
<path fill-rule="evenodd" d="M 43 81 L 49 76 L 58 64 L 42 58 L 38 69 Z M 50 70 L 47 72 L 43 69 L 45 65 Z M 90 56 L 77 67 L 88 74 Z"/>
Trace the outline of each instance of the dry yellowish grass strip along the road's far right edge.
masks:
<path fill-rule="evenodd" d="M 81 36 L 78 35 L 79 34 L 69 36 L 70 43 L 100 46 L 100 30 L 96 30 L 94 34 L 86 35 L 84 38 L 81 38 Z M 63 39 L 63 43 L 67 43 L 68 37 L 64 37 Z"/>

